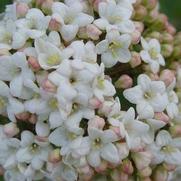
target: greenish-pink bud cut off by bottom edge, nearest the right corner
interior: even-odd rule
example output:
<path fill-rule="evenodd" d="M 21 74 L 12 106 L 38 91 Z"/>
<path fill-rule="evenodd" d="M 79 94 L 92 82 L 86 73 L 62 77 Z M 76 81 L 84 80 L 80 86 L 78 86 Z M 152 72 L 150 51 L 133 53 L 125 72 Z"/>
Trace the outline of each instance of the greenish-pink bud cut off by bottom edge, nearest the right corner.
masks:
<path fill-rule="evenodd" d="M 153 173 L 154 181 L 167 181 L 168 179 L 168 171 L 162 166 L 158 166 Z"/>

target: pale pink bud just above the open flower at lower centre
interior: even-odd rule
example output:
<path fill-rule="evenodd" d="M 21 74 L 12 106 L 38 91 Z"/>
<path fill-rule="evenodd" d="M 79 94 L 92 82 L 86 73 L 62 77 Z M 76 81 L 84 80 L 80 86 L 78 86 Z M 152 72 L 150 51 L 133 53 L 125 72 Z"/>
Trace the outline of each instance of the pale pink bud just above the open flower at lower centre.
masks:
<path fill-rule="evenodd" d="M 93 119 L 90 119 L 88 122 L 88 127 L 103 129 L 105 126 L 105 120 L 99 116 L 95 116 Z"/>

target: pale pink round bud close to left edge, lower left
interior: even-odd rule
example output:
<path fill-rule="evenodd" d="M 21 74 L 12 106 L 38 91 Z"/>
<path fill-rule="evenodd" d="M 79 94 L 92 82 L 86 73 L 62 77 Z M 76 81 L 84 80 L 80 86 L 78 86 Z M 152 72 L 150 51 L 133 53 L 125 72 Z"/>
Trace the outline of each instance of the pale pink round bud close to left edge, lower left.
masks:
<path fill-rule="evenodd" d="M 15 123 L 10 122 L 4 125 L 4 133 L 11 138 L 19 133 L 19 128 Z"/>

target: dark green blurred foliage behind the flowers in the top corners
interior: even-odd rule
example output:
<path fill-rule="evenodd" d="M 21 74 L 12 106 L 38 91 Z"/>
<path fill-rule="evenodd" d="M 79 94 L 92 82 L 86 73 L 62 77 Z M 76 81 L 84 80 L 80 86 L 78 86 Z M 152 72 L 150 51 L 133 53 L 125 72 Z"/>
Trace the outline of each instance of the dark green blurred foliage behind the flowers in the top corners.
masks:
<path fill-rule="evenodd" d="M 0 12 L 11 2 L 12 0 L 0 0 Z M 181 30 L 181 0 L 160 0 L 160 9 L 168 15 L 170 22 Z M 3 181 L 3 178 L 0 178 L 0 181 Z"/>

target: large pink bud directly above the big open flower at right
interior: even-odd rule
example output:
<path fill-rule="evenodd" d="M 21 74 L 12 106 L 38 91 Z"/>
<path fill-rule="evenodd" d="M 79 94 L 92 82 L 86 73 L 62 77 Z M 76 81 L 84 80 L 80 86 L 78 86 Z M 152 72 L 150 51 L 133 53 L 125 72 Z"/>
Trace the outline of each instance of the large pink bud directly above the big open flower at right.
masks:
<path fill-rule="evenodd" d="M 165 69 L 161 72 L 160 80 L 168 87 L 175 80 L 175 74 L 173 71 Z"/>

